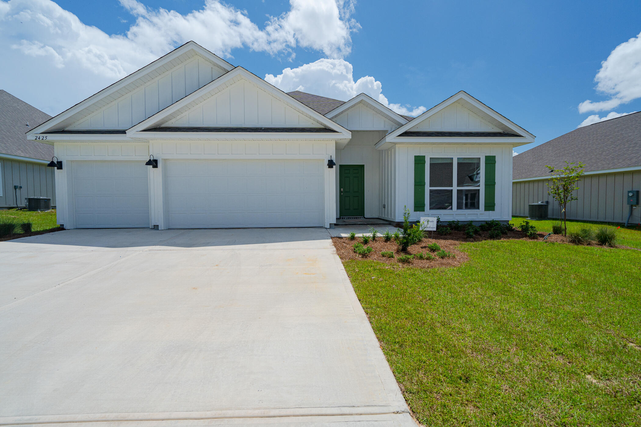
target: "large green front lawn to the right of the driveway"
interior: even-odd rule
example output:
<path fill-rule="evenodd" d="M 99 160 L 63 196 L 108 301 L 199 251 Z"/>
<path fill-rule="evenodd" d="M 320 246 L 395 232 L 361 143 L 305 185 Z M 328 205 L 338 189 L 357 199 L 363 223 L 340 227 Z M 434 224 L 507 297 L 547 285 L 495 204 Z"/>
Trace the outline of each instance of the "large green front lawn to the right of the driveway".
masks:
<path fill-rule="evenodd" d="M 641 252 L 460 248 L 454 268 L 345 262 L 420 423 L 641 425 Z"/>

